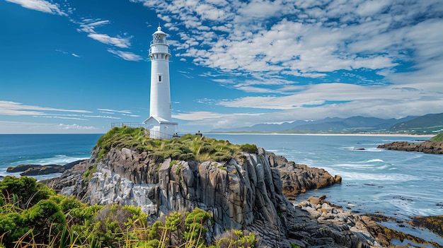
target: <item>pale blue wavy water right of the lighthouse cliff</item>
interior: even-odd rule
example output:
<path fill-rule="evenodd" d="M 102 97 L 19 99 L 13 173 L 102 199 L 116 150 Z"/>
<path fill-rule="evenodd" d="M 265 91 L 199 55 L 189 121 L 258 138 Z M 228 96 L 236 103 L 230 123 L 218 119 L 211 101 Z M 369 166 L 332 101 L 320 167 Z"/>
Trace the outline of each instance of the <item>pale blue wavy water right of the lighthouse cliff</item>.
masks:
<path fill-rule="evenodd" d="M 321 167 L 343 183 L 301 194 L 299 200 L 326 194 L 328 201 L 361 213 L 397 218 L 443 215 L 442 155 L 383 150 L 413 136 L 207 135 L 231 143 L 255 143 L 295 163 Z M 364 148 L 365 150 L 356 150 Z"/>

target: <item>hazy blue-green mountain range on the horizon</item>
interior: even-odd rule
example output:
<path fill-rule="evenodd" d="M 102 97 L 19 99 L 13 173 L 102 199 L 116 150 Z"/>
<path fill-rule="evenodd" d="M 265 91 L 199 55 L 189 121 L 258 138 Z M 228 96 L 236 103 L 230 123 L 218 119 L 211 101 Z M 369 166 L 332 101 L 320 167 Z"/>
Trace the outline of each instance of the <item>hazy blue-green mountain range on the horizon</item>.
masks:
<path fill-rule="evenodd" d="M 327 134 L 438 134 L 443 131 L 443 113 L 408 116 L 402 119 L 375 117 L 326 118 L 316 121 L 295 121 L 282 124 L 255 124 L 233 129 L 214 129 L 211 132 L 249 133 L 327 133 Z"/>

